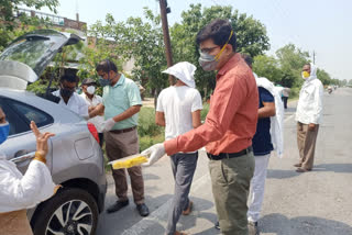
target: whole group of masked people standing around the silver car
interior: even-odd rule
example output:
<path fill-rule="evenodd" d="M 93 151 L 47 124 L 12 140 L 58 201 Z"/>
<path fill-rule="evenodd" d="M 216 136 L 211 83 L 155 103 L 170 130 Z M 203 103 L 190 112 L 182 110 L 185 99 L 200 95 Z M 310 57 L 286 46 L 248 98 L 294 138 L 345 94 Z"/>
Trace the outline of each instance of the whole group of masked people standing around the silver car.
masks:
<path fill-rule="evenodd" d="M 270 157 L 273 150 L 279 157 L 284 154 L 283 121 L 289 89 L 283 88 L 279 93 L 270 80 L 252 71 L 253 59 L 237 52 L 235 32 L 226 20 L 213 20 L 201 29 L 196 43 L 202 69 L 218 71 L 207 119 L 201 123 L 202 99 L 196 89 L 196 66 L 180 61 L 163 71 L 176 79 L 176 83 L 164 89 L 157 99 L 155 122 L 165 126 L 165 142 L 142 153 L 148 156 L 148 161 L 143 166 L 152 166 L 160 158 L 169 156 L 175 192 L 167 217 L 166 234 L 183 235 L 185 233 L 177 231 L 176 225 L 182 215 L 188 215 L 193 210 L 193 201 L 188 194 L 197 167 L 198 149 L 206 146 L 219 220 L 216 227 L 224 235 L 258 234 L 257 222 Z M 306 172 L 314 167 L 323 92 L 316 70 L 312 64 L 306 64 L 302 68 L 305 82 L 296 113 L 300 156 L 295 165 L 297 172 Z M 109 59 L 99 63 L 96 71 L 99 82 L 91 78 L 85 79 L 80 85 L 81 94 L 75 92 L 79 79 L 74 75 L 64 75 L 59 89 L 53 94 L 59 98 L 59 105 L 70 109 L 96 125 L 100 144 L 106 144 L 106 155 L 110 161 L 138 154 L 138 114 L 142 107 L 138 85 L 120 72 Z M 102 97 L 96 94 L 99 85 L 103 89 Z M 2 111 L 0 121 L 2 143 L 9 133 Z M 31 127 L 37 137 L 37 154 L 25 175 L 22 176 L 14 164 L 0 158 L 0 175 L 7 177 L 7 180 L 2 177 L 0 181 L 1 189 L 7 189 L 0 192 L 0 224 L 7 221 L 9 214 L 21 217 L 16 223 L 25 222 L 24 210 L 47 199 L 57 190 L 45 166 L 46 141 L 53 134 L 40 133 L 35 123 L 32 123 Z M 118 212 L 129 205 L 127 175 L 131 179 L 136 210 L 141 216 L 147 216 L 150 210 L 145 204 L 142 166 L 112 169 L 117 201 L 107 212 Z M 34 184 L 33 177 L 41 178 L 42 181 L 35 181 Z M 45 192 L 38 193 L 38 182 L 42 182 L 41 190 Z M 11 190 L 21 186 L 25 188 L 20 195 L 16 190 Z M 16 195 L 15 202 L 24 200 L 22 198 L 25 198 L 25 202 L 13 205 L 3 203 L 13 195 Z M 25 224 L 23 230 L 30 231 L 28 222 Z M 9 231 L 12 225 L 8 224 Z"/>

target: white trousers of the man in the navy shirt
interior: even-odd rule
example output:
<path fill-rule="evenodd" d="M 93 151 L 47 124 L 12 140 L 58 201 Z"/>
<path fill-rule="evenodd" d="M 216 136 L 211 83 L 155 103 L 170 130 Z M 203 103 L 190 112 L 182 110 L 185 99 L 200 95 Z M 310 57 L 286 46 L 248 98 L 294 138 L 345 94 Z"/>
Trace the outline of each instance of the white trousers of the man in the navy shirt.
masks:
<path fill-rule="evenodd" d="M 251 204 L 248 211 L 248 219 L 252 222 L 257 222 L 260 220 L 270 156 L 270 154 L 263 156 L 254 156 L 255 168 L 254 176 L 251 180 Z"/>

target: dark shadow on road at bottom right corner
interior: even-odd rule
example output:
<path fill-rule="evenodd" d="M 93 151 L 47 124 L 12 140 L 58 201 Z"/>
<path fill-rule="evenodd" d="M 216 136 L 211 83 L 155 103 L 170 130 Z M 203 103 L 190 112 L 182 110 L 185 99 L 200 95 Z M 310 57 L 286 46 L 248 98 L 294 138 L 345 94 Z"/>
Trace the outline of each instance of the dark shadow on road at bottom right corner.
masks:
<path fill-rule="evenodd" d="M 265 215 L 258 223 L 260 231 L 279 235 L 344 235 L 352 234 L 348 224 L 315 216 L 288 219 L 283 214 Z"/>

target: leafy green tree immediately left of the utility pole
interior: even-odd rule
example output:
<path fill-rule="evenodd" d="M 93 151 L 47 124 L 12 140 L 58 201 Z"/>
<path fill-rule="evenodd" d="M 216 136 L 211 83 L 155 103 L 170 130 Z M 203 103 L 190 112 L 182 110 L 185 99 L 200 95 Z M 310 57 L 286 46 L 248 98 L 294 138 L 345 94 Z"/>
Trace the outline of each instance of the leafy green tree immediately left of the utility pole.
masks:
<path fill-rule="evenodd" d="M 144 20 L 129 18 L 125 22 L 116 22 L 108 14 L 106 24 L 97 22 L 91 26 L 90 33 L 98 41 L 110 38 L 110 51 L 113 48 L 121 61 L 134 60 L 132 78 L 151 93 L 157 96 L 167 86 L 167 76 L 161 72 L 166 68 L 166 58 L 160 15 L 154 15 L 150 9 L 144 8 Z"/>

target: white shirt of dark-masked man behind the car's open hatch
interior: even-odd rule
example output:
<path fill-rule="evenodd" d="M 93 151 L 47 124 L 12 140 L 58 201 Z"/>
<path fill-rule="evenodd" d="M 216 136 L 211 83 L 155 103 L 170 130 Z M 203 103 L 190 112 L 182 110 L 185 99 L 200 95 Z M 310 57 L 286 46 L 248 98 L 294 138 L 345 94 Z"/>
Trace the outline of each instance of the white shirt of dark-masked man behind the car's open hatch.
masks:
<path fill-rule="evenodd" d="M 65 107 L 66 109 L 69 109 L 70 111 L 77 113 L 81 118 L 87 119 L 89 116 L 88 104 L 86 100 L 81 98 L 78 93 L 74 92 L 73 96 L 70 96 L 67 104 L 65 103 L 64 99 L 59 94 L 59 90 L 54 91 L 53 94 L 61 98 L 58 102 L 59 105 Z"/>

